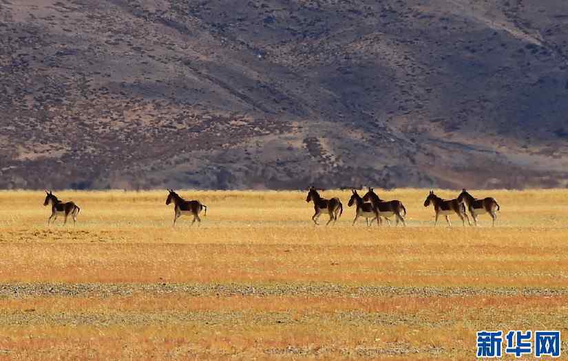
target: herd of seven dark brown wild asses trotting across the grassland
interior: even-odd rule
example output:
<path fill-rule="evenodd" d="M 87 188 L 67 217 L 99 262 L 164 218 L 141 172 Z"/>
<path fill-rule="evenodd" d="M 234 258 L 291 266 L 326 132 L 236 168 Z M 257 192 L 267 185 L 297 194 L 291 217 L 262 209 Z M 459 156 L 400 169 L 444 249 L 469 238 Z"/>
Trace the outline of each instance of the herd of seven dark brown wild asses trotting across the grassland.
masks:
<path fill-rule="evenodd" d="M 204 211 L 204 215 L 207 216 L 207 206 L 201 203 L 199 200 L 185 200 L 179 194 L 173 191 L 173 189 L 168 189 L 168 196 L 166 198 L 166 205 L 173 202 L 173 225 L 176 225 L 176 220 L 182 215 L 193 216 L 193 222 L 191 225 L 198 221 L 201 223 L 200 213 Z M 57 198 L 51 191 L 45 191 L 45 201 L 43 205 L 51 205 L 52 214 L 48 218 L 48 225 L 55 222 L 57 216 L 63 215 L 63 224 L 67 223 L 67 217 L 69 215 L 73 218 L 73 223 L 76 223 L 77 214 L 81 209 L 73 202 L 63 203 L 59 198 Z M 343 205 L 339 198 L 334 197 L 331 199 L 325 199 L 319 196 L 317 189 L 310 187 L 308 190 L 308 196 L 306 197 L 306 202 L 313 202 L 315 213 L 312 216 L 313 223 L 316 225 L 317 219 L 322 214 L 328 214 L 329 220 L 326 225 L 329 225 L 332 221 L 335 223 L 341 214 L 343 214 Z M 480 214 L 489 214 L 493 220 L 493 226 L 495 225 L 495 220 L 497 219 L 496 211 L 500 209 L 496 200 L 492 197 L 477 199 L 471 194 L 467 193 L 465 189 L 459 194 L 457 198 L 454 199 L 442 199 L 434 194 L 434 191 L 430 191 L 428 197 L 424 201 L 424 207 L 428 207 L 430 204 L 434 206 L 434 212 L 436 214 L 436 220 L 434 226 L 438 224 L 439 216 L 445 216 L 446 222 L 451 227 L 450 215 L 456 214 L 460 219 L 462 224 L 465 226 L 465 220 L 467 223 L 472 225 L 470 217 L 467 213 L 472 216 L 475 225 L 477 225 L 477 216 Z M 388 225 L 390 225 L 390 217 L 394 216 L 396 220 L 396 225 L 402 223 L 406 226 L 404 218 L 406 217 L 406 208 L 400 200 L 382 200 L 379 196 L 369 187 L 368 192 L 364 196 L 359 196 L 357 190 L 351 190 L 351 198 L 347 203 L 349 207 L 355 205 L 355 219 L 353 219 L 352 225 L 355 225 L 359 217 L 366 219 L 367 225 L 371 225 L 373 220 L 377 221 L 377 226 L 381 225 L 383 218 L 386 220 Z"/>

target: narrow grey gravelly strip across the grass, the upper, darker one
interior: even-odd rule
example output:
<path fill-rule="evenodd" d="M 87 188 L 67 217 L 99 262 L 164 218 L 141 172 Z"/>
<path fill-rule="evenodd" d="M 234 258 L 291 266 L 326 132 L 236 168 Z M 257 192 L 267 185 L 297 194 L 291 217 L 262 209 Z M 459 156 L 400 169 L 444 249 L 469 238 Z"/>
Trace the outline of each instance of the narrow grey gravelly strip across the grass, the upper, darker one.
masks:
<path fill-rule="evenodd" d="M 333 284 L 280 284 L 280 285 L 183 285 L 183 284 L 4 284 L 0 285 L 0 298 L 31 297 L 111 297 L 132 296 L 144 293 L 147 296 L 182 293 L 187 296 L 316 296 L 316 297 L 467 297 L 467 296 L 562 296 L 568 288 L 472 288 L 472 287 L 346 287 Z"/>

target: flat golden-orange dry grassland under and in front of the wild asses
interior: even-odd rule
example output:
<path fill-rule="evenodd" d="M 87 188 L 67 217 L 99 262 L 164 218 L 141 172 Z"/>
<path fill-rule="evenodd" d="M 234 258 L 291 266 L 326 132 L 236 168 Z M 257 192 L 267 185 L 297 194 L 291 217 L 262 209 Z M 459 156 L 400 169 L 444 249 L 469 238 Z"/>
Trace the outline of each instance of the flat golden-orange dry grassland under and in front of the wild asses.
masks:
<path fill-rule="evenodd" d="M 568 335 L 567 190 L 471 191 L 494 228 L 434 228 L 427 189 L 379 192 L 406 228 L 352 227 L 333 190 L 333 227 L 305 192 L 180 191 L 209 209 L 175 228 L 166 191 L 54 193 L 76 225 L 0 192 L 0 360 L 471 360 L 482 329 Z"/>

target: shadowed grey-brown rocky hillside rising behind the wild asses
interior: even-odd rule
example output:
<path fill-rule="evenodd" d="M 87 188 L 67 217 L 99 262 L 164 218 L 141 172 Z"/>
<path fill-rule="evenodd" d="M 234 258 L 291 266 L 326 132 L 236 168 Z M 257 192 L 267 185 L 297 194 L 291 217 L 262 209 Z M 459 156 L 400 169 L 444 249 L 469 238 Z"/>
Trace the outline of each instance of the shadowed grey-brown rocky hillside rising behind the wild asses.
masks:
<path fill-rule="evenodd" d="M 0 0 L 0 187 L 568 186 L 565 0 Z"/>

